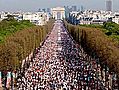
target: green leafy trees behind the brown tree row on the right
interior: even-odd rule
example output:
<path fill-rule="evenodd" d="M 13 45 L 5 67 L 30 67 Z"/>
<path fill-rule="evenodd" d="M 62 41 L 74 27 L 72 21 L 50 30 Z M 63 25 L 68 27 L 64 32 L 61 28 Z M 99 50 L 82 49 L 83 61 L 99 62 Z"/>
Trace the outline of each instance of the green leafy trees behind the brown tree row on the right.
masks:
<path fill-rule="evenodd" d="M 100 28 L 108 37 L 110 37 L 119 46 L 119 25 L 114 22 L 105 22 L 103 25 L 90 24 L 81 25 L 84 27 Z"/>

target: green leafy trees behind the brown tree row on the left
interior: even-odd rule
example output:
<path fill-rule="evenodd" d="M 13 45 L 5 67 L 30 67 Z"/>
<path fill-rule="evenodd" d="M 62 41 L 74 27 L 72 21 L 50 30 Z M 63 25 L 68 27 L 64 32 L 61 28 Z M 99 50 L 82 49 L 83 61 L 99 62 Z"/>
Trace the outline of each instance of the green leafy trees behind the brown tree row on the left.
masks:
<path fill-rule="evenodd" d="M 34 24 L 30 23 L 30 21 L 22 20 L 17 21 L 14 18 L 7 18 L 0 22 L 0 43 L 4 42 L 4 38 L 9 36 L 19 30 L 24 28 L 35 26 Z"/>

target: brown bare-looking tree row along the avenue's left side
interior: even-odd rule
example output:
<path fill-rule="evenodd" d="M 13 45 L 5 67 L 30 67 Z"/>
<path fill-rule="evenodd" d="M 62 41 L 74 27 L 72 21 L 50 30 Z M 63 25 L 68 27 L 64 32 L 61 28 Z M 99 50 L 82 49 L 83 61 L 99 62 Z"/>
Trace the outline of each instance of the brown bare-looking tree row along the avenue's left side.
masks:
<path fill-rule="evenodd" d="M 33 26 L 19 30 L 5 38 L 0 44 L 0 70 L 17 70 L 25 59 L 45 39 L 53 20 L 44 26 Z"/>

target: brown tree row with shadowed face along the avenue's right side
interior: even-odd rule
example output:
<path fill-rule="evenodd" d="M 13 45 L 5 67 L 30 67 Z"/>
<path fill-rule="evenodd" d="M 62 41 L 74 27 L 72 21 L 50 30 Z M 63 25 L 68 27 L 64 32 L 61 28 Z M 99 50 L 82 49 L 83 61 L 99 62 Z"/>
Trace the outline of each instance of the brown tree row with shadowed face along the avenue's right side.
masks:
<path fill-rule="evenodd" d="M 74 26 L 65 22 L 73 38 L 82 45 L 91 56 L 99 58 L 101 65 L 107 65 L 119 75 L 119 48 L 99 28 Z"/>

